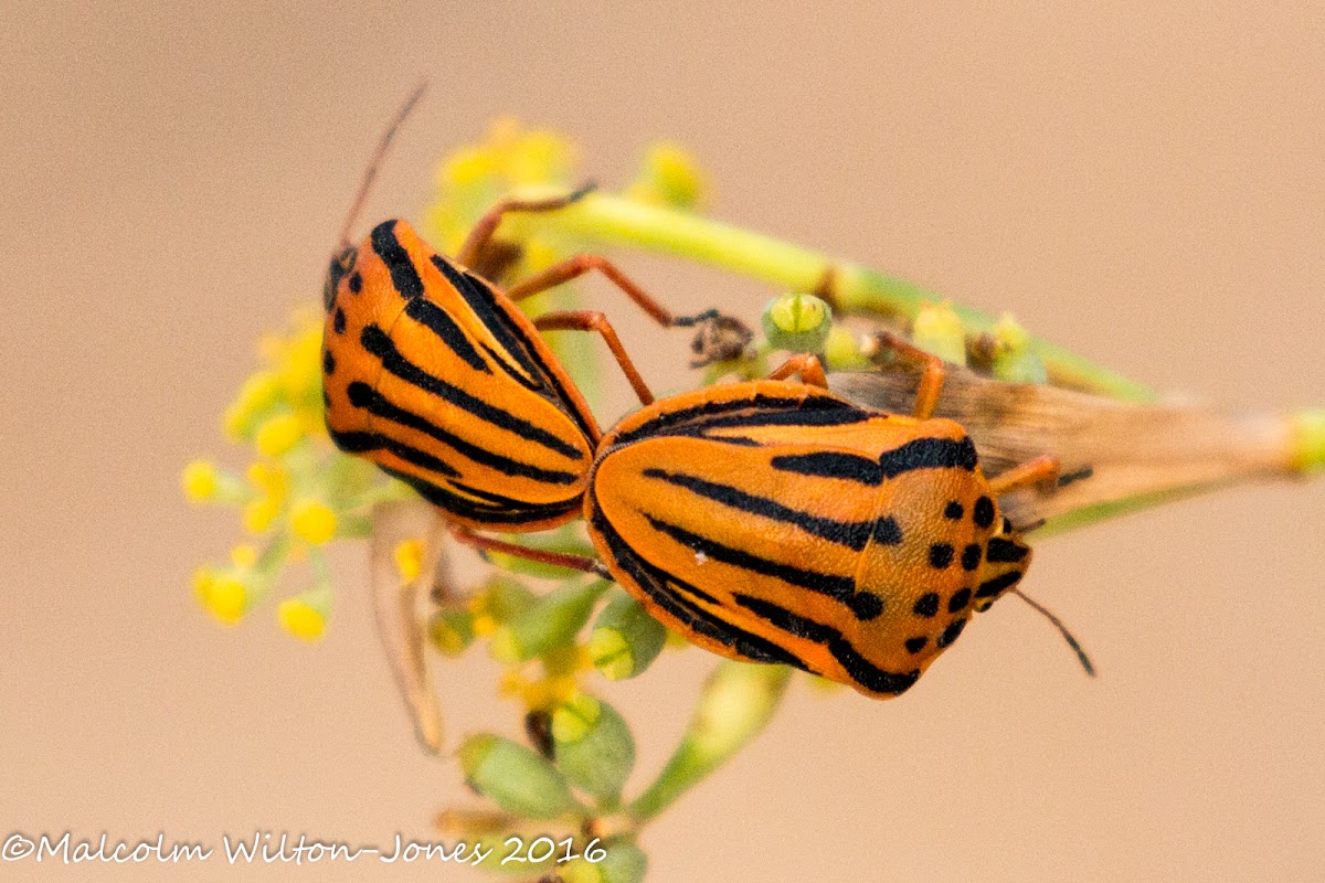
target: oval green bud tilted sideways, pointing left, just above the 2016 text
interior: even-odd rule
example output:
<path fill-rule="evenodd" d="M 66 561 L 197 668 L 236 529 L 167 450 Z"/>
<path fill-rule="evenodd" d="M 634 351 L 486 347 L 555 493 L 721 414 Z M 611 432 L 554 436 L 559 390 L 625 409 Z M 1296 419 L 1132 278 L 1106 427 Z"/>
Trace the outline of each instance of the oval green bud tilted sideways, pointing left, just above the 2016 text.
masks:
<path fill-rule="evenodd" d="M 584 812 L 556 768 L 518 743 L 477 733 L 457 753 L 469 786 L 507 813 L 554 819 Z"/>

